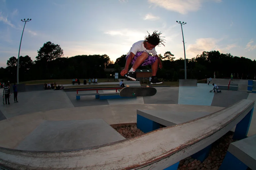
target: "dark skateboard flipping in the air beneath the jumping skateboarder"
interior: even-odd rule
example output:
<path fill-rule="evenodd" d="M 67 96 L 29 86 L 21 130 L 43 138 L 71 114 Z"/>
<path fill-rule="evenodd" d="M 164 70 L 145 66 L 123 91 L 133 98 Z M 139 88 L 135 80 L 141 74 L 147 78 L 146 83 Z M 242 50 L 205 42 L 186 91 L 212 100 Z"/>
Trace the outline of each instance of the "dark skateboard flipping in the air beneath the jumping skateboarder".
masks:
<path fill-rule="evenodd" d="M 121 97 L 143 97 L 154 96 L 156 93 L 157 89 L 154 87 L 124 87 L 119 95 Z"/>

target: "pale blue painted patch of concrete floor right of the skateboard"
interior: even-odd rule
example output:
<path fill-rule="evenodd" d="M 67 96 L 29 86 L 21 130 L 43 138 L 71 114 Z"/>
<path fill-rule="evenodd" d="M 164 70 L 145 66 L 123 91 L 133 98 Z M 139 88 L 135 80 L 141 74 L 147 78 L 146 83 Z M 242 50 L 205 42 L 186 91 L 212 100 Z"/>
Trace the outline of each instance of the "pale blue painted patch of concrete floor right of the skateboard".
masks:
<path fill-rule="evenodd" d="M 211 106 L 214 93 L 213 85 L 198 83 L 196 87 L 179 87 L 178 104 Z"/>

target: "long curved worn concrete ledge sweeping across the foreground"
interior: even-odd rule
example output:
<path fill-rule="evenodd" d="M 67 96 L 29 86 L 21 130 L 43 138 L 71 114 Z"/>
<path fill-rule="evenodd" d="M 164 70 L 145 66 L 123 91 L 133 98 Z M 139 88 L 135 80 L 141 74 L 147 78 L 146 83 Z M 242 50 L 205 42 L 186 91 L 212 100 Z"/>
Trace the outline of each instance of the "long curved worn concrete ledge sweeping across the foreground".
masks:
<path fill-rule="evenodd" d="M 253 107 L 253 100 L 243 99 L 198 119 L 92 148 L 56 152 L 0 148 L 0 165 L 37 170 L 165 169 L 218 140 Z"/>

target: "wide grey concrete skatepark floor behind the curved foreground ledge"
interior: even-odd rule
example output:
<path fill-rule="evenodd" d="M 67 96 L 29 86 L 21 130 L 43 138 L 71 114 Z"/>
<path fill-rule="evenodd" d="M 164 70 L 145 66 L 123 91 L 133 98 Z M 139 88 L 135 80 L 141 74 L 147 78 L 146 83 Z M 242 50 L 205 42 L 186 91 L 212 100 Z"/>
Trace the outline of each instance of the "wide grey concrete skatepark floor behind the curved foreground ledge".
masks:
<path fill-rule="evenodd" d="M 244 91 L 222 90 L 222 93 L 210 93 L 212 88 L 212 85 L 207 84 L 198 84 L 195 87 L 156 87 L 158 92 L 155 96 L 110 100 L 98 100 L 95 96 L 82 96 L 80 100 L 76 100 L 76 92 L 63 90 L 20 92 L 18 93 L 19 103 L 14 103 L 12 96 L 11 105 L 0 106 L 0 119 L 2 119 L 0 135 L 5 136 L 0 139 L 0 146 L 26 150 L 25 143 L 33 143 L 40 139 L 37 134 L 47 136 L 46 132 L 49 131 L 51 125 L 45 122 L 50 121 L 60 123 L 59 127 L 65 127 L 63 121 L 79 122 L 90 119 L 103 119 L 108 124 L 133 123 L 136 122 L 137 109 L 195 113 L 200 108 L 201 112 L 213 113 L 241 99 L 256 99 L 255 94 Z M 101 91 L 110 92 L 110 90 Z M 256 133 L 255 115 L 253 114 L 248 136 Z M 57 126 L 52 125 L 52 127 L 57 129 Z M 78 129 L 83 132 L 82 125 Z M 58 132 L 64 133 L 62 129 L 58 129 Z M 60 139 L 53 140 L 59 142 Z M 70 138 L 66 137 L 62 140 L 61 142 L 70 141 Z M 72 148 L 76 143 L 79 147 L 87 146 L 81 145 L 79 141 L 67 146 Z M 60 146 L 62 147 L 56 146 L 55 149 L 67 149 L 64 145 Z M 36 146 L 33 147 L 36 148 Z M 48 149 L 54 150 L 53 148 L 54 145 L 48 144 Z M 43 148 L 37 149 L 43 150 Z"/>

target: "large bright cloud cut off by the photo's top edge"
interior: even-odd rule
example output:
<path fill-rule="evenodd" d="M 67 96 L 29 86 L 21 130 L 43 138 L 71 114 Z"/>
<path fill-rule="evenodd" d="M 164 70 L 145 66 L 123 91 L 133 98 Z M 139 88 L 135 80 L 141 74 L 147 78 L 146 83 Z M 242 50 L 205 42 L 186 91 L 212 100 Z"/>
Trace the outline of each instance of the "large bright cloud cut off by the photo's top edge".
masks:
<path fill-rule="evenodd" d="M 212 1 L 222 2 L 222 0 Z M 198 11 L 202 6 L 203 0 L 148 0 L 148 2 L 166 10 L 187 14 L 190 11 Z"/>

